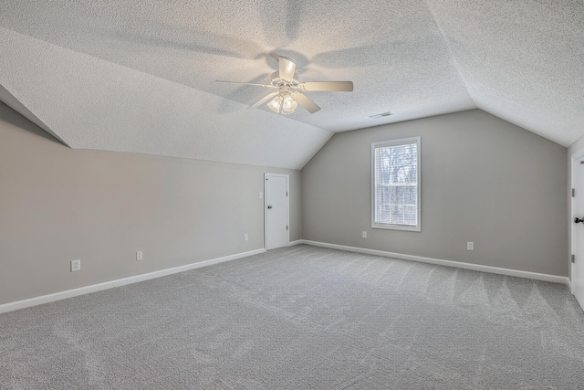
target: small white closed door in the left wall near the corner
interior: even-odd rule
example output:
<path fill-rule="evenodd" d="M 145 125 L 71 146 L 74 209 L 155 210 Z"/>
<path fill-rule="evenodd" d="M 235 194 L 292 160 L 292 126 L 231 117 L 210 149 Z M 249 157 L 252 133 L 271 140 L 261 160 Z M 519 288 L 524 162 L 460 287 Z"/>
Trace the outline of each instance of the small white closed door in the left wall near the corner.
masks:
<path fill-rule="evenodd" d="M 288 230 L 288 175 L 266 174 L 266 250 L 287 247 Z"/>

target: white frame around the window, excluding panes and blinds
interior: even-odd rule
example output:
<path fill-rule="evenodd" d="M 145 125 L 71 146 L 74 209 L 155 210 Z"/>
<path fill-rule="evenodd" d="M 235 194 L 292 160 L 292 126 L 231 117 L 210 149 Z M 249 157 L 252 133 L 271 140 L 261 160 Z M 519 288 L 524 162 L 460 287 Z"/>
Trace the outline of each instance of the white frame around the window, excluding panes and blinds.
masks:
<path fill-rule="evenodd" d="M 375 149 L 384 146 L 398 146 L 408 143 L 416 142 L 418 147 L 417 164 L 418 164 L 418 177 L 417 177 L 417 208 L 418 208 L 418 220 L 415 226 L 413 225 L 399 225 L 399 224 L 381 224 L 375 222 Z M 371 227 L 378 229 L 391 229 L 391 230 L 406 230 L 413 232 L 422 231 L 422 138 L 421 137 L 411 137 L 411 138 L 401 138 L 399 140 L 390 140 L 382 142 L 372 142 L 371 143 Z"/>

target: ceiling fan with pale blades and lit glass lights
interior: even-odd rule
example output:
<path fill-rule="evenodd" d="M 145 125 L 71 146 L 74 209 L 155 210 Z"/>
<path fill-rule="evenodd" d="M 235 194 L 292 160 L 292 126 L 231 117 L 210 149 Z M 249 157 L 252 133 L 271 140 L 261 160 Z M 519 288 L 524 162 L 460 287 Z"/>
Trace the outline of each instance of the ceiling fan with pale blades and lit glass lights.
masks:
<path fill-rule="evenodd" d="M 278 57 L 278 71 L 272 73 L 269 84 L 257 84 L 251 82 L 237 82 L 237 81 L 221 81 L 233 84 L 255 85 L 258 87 L 274 88 L 276 92 L 270 93 L 263 99 L 257 101 L 255 104 L 249 106 L 250 109 L 255 109 L 266 101 L 267 107 L 276 112 L 283 114 L 291 114 L 297 108 L 297 104 L 304 107 L 308 112 L 315 113 L 320 110 L 318 105 L 308 99 L 301 91 L 323 90 L 323 91 L 347 91 L 353 90 L 352 81 L 307 81 L 299 82 L 294 74 L 296 64 L 289 58 Z"/>

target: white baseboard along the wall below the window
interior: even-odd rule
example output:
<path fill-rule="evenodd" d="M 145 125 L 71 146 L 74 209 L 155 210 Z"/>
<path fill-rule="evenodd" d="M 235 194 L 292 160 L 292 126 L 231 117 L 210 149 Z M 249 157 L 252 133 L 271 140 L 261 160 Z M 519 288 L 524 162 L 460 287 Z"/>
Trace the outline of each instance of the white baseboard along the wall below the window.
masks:
<path fill-rule="evenodd" d="M 549 275 L 549 274 L 537 273 L 537 272 L 521 271 L 521 270 L 517 270 L 517 269 L 502 269 L 499 267 L 483 266 L 480 264 L 464 263 L 461 261 L 443 260 L 440 258 L 424 258 L 422 256 L 404 255 L 402 253 L 386 252 L 383 250 L 347 247 L 344 245 L 328 244 L 325 242 L 310 241 L 307 239 L 302 240 L 302 243 L 307 244 L 307 245 L 312 245 L 315 247 L 347 250 L 349 252 L 358 252 L 358 253 L 364 253 L 367 255 L 384 256 L 387 258 L 401 258 L 404 260 L 419 261 L 422 263 L 436 264 L 436 265 L 440 265 L 440 266 L 454 267 L 454 268 L 458 268 L 458 269 L 471 269 L 474 271 L 490 272 L 490 273 L 495 273 L 495 274 L 499 274 L 499 275 L 515 276 L 517 278 L 527 278 L 527 279 L 551 281 L 554 283 L 567 284 L 571 290 L 571 284 L 569 282 L 569 279 L 568 279 L 568 277 L 565 277 L 565 276 L 557 276 L 557 275 Z"/>

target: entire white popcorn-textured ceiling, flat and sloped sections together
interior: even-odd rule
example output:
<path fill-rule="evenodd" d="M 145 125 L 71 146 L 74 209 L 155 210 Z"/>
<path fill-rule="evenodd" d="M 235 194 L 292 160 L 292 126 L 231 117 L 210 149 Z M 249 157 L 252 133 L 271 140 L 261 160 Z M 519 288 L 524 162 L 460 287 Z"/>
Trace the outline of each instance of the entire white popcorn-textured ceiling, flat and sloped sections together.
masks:
<path fill-rule="evenodd" d="M 584 135 L 582 1 L 0 7 L 0 85 L 72 148 L 299 169 L 334 132 L 474 108 L 565 146 Z M 277 56 L 355 90 L 283 116 L 246 109 L 266 90 L 214 81 L 265 83 Z"/>

